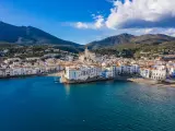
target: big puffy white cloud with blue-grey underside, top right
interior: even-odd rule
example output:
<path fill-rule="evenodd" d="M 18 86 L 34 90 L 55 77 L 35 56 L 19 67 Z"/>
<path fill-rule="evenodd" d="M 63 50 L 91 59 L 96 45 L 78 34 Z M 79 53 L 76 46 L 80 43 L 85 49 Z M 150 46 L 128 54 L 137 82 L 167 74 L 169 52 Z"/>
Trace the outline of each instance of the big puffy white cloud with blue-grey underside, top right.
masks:
<path fill-rule="evenodd" d="M 119 0 L 113 2 L 108 28 L 175 26 L 175 0 Z"/>

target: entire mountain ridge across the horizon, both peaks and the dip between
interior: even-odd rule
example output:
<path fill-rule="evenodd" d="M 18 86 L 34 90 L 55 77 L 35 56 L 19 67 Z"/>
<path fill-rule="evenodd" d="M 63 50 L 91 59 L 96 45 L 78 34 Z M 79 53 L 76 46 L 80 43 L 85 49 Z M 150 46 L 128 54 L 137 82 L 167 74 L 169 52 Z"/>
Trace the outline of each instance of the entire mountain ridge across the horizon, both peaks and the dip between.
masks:
<path fill-rule="evenodd" d="M 120 34 L 109 36 L 101 40 L 95 40 L 86 45 L 63 40 L 49 33 L 33 26 L 15 26 L 0 22 L 0 43 L 11 43 L 16 45 L 56 45 L 65 50 L 82 51 L 84 47 L 89 49 L 114 48 L 118 45 L 150 44 L 159 45 L 162 43 L 175 41 L 175 37 L 164 34 L 145 34 L 135 36 L 131 34 Z"/>

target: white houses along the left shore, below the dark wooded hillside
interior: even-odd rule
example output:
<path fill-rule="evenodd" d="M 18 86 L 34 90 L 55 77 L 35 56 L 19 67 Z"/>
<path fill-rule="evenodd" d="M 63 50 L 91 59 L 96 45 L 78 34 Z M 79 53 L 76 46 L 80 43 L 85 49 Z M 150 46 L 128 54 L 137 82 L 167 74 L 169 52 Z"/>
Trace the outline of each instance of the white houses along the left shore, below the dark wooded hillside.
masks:
<path fill-rule="evenodd" d="M 13 78 L 24 75 L 42 75 L 63 70 L 61 64 L 57 64 L 55 59 L 47 59 L 45 61 L 39 58 L 11 58 L 1 61 L 0 78 Z"/>

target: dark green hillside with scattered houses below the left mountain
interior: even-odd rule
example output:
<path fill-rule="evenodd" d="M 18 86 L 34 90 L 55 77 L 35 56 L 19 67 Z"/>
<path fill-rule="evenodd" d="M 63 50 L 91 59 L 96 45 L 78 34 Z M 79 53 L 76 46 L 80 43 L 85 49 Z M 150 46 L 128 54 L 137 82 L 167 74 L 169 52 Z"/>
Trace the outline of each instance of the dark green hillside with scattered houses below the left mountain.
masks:
<path fill-rule="evenodd" d="M 67 47 L 67 46 L 66 46 Z M 10 43 L 0 43 L 0 56 L 7 58 L 28 58 L 28 57 L 44 57 L 56 56 L 57 58 L 66 57 L 67 55 L 77 56 L 79 50 L 69 48 L 61 48 L 52 45 L 16 45 Z"/>

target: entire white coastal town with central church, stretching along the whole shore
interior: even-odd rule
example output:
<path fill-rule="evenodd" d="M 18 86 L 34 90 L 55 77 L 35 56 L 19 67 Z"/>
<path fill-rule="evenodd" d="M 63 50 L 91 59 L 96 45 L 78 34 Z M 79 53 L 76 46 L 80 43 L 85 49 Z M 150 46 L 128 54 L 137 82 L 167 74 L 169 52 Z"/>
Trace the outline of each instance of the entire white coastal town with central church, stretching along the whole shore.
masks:
<path fill-rule="evenodd" d="M 0 61 L 0 78 L 55 74 L 61 83 L 88 83 L 107 80 L 138 79 L 154 82 L 174 82 L 174 56 L 149 60 L 142 58 L 117 58 L 102 56 L 88 48 L 79 57 L 67 55 L 65 59 L 48 58 L 8 58 Z"/>

